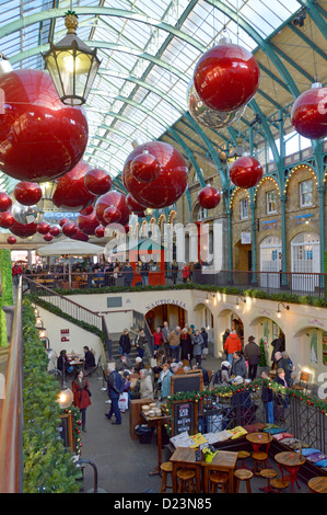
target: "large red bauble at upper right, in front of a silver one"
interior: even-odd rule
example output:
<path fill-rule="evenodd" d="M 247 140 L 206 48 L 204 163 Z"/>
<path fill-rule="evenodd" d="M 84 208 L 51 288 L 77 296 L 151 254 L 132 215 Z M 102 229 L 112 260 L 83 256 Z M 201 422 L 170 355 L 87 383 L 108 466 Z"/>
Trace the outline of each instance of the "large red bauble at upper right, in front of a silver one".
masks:
<path fill-rule="evenodd" d="M 252 53 L 223 39 L 198 60 L 194 84 L 209 107 L 235 111 L 255 95 L 259 78 L 259 66 Z"/>

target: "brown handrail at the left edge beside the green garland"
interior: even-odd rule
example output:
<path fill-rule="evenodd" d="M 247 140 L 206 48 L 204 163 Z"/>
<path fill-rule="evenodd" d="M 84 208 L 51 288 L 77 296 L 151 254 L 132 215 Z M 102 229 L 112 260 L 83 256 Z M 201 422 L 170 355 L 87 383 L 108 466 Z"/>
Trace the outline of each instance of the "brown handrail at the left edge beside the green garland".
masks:
<path fill-rule="evenodd" d="M 4 399 L 0 401 L 0 493 L 23 492 L 22 278 L 10 339 Z"/>

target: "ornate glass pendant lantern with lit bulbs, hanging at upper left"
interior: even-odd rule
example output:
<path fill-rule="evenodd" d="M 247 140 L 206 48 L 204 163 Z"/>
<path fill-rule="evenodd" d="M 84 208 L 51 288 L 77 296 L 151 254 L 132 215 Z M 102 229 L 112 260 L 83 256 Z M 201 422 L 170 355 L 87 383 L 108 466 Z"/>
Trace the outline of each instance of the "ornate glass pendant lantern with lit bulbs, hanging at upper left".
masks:
<path fill-rule="evenodd" d="M 77 36 L 78 24 L 75 12 L 67 11 L 67 35 L 43 54 L 58 95 L 68 105 L 86 102 L 101 64 L 96 48 L 92 50 Z"/>

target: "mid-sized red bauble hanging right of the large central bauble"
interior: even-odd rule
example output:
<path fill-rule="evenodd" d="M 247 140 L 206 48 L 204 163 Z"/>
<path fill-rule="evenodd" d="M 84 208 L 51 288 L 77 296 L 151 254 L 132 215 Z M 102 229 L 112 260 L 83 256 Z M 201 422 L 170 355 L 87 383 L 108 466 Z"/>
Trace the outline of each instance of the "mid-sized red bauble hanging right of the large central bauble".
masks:
<path fill-rule="evenodd" d="M 238 187 L 253 187 L 262 179 L 264 170 L 252 156 L 242 156 L 230 168 L 230 179 Z"/>

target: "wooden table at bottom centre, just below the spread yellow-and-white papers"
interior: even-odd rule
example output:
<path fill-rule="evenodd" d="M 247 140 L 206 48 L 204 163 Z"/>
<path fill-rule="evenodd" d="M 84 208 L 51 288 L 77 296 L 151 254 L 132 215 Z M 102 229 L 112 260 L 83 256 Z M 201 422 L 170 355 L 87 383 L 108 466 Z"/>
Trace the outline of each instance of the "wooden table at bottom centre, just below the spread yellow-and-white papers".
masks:
<path fill-rule="evenodd" d="M 196 472 L 196 493 L 209 493 L 209 473 L 225 472 L 229 474 L 230 492 L 234 492 L 234 471 L 236 469 L 238 453 L 229 450 L 218 450 L 212 461 L 196 461 L 196 449 L 189 447 L 178 447 L 171 461 L 173 462 L 173 492 L 177 492 L 177 469 L 188 468 Z"/>

